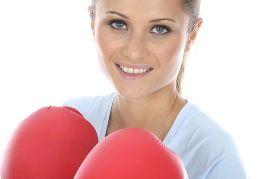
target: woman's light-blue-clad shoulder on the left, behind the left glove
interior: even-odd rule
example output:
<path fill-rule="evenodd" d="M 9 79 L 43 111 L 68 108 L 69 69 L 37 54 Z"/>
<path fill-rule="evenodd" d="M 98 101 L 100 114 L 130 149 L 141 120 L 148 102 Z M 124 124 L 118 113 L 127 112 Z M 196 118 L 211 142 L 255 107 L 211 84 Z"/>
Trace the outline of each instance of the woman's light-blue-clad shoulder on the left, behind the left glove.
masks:
<path fill-rule="evenodd" d="M 109 106 L 111 106 L 116 93 L 104 96 L 78 97 L 64 101 L 61 106 L 70 106 L 79 110 L 80 113 L 95 128 L 103 122 Z"/>

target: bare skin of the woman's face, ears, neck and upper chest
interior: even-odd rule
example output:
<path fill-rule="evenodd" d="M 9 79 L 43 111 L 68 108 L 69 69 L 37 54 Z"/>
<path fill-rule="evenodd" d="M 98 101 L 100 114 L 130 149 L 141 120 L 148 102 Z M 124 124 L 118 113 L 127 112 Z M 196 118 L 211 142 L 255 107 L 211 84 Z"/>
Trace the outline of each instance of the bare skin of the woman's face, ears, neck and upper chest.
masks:
<path fill-rule="evenodd" d="M 100 66 L 117 91 L 106 136 L 119 129 L 139 127 L 163 141 L 187 103 L 176 91 L 176 78 L 202 19 L 189 33 L 189 16 L 178 0 L 100 0 L 95 18 L 91 10 L 90 14 Z M 121 26 L 111 25 L 111 20 L 119 20 Z M 171 31 L 159 35 L 155 28 L 159 25 Z M 118 63 L 146 65 L 152 70 L 142 78 L 129 80 L 120 74 Z"/>

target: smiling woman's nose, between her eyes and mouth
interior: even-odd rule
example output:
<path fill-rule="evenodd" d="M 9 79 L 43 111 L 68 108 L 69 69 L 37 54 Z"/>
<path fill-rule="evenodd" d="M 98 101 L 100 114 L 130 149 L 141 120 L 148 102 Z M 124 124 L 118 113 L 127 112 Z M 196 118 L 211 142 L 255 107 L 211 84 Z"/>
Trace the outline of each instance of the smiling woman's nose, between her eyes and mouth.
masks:
<path fill-rule="evenodd" d="M 131 60 L 141 60 L 149 56 L 147 40 L 142 34 L 132 34 L 127 39 L 123 55 Z"/>

